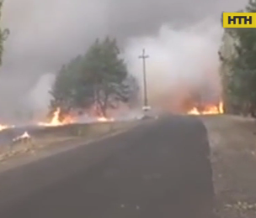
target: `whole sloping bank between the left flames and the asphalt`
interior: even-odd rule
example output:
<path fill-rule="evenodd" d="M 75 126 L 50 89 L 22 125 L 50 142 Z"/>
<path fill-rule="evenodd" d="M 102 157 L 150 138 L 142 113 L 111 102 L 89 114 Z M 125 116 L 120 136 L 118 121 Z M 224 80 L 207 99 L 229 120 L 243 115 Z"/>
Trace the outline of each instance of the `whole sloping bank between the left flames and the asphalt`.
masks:
<path fill-rule="evenodd" d="M 20 127 L 0 132 L 0 171 L 135 127 L 138 121 L 95 122 L 59 127 Z M 29 138 L 13 143 L 28 132 Z"/>

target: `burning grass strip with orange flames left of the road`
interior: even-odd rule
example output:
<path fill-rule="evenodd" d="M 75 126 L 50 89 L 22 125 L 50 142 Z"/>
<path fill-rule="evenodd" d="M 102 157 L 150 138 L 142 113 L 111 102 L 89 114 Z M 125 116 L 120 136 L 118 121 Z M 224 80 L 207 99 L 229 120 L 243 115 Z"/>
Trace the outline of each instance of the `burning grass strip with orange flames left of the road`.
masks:
<path fill-rule="evenodd" d="M 80 139 L 86 141 L 89 138 L 99 138 L 135 123 L 116 122 L 112 117 L 103 116 L 88 117 L 85 122 L 80 123 L 80 118 L 78 114 L 63 115 L 61 108 L 56 108 L 47 122 L 34 122 L 32 126 L 26 127 L 0 125 L 0 161 L 56 143 L 61 145 L 69 140 L 76 142 Z"/>

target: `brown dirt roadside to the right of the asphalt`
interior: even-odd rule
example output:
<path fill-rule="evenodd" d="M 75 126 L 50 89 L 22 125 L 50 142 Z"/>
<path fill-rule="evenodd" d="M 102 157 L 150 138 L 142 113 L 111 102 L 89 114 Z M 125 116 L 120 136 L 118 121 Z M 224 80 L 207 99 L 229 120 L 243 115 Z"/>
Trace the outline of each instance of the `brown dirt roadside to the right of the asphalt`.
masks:
<path fill-rule="evenodd" d="M 235 116 L 201 117 L 211 144 L 220 218 L 256 217 L 256 122 Z"/>

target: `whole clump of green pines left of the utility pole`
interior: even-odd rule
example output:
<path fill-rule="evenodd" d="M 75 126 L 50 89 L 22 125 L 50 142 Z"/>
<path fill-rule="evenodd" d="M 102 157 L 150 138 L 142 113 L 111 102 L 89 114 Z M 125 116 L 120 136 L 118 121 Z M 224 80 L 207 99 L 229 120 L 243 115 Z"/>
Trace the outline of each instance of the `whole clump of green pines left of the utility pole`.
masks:
<path fill-rule="evenodd" d="M 137 84 L 126 69 L 115 39 L 97 39 L 84 55 L 60 70 L 51 91 L 51 107 L 91 108 L 107 117 L 107 109 L 136 99 Z"/>

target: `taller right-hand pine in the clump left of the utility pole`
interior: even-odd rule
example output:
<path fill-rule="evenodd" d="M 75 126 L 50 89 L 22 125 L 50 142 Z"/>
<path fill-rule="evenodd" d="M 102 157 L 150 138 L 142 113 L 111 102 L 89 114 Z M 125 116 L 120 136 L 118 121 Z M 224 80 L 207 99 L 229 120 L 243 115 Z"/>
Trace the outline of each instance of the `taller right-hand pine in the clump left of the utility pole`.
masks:
<path fill-rule="evenodd" d="M 93 85 L 94 104 L 101 116 L 106 116 L 108 107 L 116 107 L 116 103 L 127 101 L 126 86 L 123 83 L 127 77 L 124 60 L 120 58 L 120 49 L 115 39 L 99 39 L 85 55 L 88 80 Z"/>

